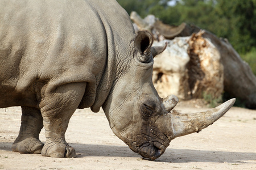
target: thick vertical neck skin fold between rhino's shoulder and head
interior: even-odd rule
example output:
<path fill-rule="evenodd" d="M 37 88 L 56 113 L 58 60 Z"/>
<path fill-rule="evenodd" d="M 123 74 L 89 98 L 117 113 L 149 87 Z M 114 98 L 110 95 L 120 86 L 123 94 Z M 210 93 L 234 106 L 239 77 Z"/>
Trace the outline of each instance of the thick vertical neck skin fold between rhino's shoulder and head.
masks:
<path fill-rule="evenodd" d="M 115 1 L 111 2 L 117 3 Z M 93 1 L 92 7 L 98 8 L 98 6 L 100 6 L 96 3 L 101 2 Z M 92 107 L 90 107 L 93 112 L 100 111 L 100 107 L 102 107 L 108 99 L 113 84 L 117 79 L 119 69 L 122 69 L 120 65 L 123 65 L 124 61 L 121 56 L 130 54 L 129 43 L 134 39 L 133 36 L 135 35 L 129 15 L 127 15 L 126 11 L 119 5 L 115 5 L 116 8 L 112 6 L 108 7 L 112 8 L 112 10 L 106 10 L 105 7 L 102 10 L 97 10 L 106 34 L 106 63 L 100 82 L 97 84 L 96 99 Z M 120 17 L 120 15 L 127 19 L 123 20 L 123 17 Z M 120 30 L 120 28 L 123 29 Z"/>

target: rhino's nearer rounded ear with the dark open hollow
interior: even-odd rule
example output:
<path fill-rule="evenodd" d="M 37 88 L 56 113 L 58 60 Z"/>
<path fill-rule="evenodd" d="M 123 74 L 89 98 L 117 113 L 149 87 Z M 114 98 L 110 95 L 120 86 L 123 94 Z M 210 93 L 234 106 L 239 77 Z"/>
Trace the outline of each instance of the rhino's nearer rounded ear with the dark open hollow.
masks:
<path fill-rule="evenodd" d="M 153 37 L 148 31 L 138 31 L 134 41 L 134 48 L 141 54 L 139 61 L 147 63 L 151 60 L 151 46 Z"/>

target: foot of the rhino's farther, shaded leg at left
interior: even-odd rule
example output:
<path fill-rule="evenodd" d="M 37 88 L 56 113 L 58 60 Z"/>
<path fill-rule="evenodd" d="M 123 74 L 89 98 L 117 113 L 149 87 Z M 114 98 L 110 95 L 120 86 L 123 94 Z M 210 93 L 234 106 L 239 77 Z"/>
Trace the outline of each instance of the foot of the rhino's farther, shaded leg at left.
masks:
<path fill-rule="evenodd" d="M 20 154 L 40 154 L 44 144 L 36 138 L 17 138 L 13 146 L 11 147 L 14 152 L 19 152 Z"/>

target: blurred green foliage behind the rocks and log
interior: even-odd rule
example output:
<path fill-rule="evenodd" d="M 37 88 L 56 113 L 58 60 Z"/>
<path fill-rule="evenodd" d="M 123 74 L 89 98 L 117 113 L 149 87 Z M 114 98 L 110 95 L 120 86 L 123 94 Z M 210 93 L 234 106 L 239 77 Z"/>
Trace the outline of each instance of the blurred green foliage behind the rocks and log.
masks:
<path fill-rule="evenodd" d="M 130 14 L 153 14 L 166 24 L 195 24 L 229 40 L 255 74 L 256 0 L 117 0 Z"/>

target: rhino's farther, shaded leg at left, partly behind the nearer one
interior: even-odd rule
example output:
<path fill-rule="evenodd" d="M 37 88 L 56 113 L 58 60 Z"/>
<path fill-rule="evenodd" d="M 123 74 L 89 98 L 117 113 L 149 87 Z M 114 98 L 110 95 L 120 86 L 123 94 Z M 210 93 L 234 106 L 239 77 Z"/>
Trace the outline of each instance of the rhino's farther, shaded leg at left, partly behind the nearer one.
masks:
<path fill-rule="evenodd" d="M 40 154 L 44 144 L 39 140 L 43 117 L 39 109 L 22 107 L 22 123 L 12 149 L 20 154 Z"/>

